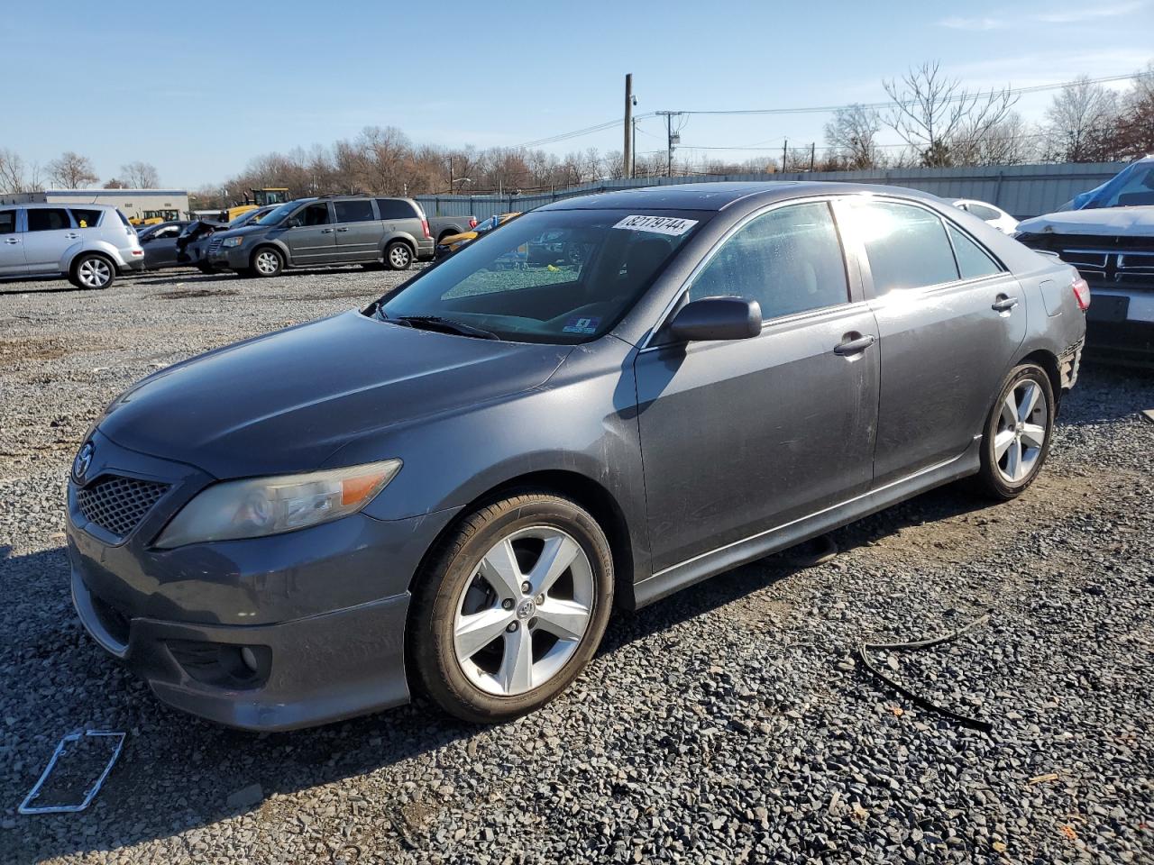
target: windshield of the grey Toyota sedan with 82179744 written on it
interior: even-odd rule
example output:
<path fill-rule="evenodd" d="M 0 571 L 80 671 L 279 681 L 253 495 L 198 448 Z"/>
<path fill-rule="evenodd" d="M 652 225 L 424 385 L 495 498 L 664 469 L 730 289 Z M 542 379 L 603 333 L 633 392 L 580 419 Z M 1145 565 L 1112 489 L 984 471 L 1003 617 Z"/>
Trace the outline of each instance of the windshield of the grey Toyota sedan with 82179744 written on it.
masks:
<path fill-rule="evenodd" d="M 520 343 L 587 343 L 634 306 L 713 215 L 546 210 L 489 232 L 415 277 L 381 317 L 435 317 Z"/>

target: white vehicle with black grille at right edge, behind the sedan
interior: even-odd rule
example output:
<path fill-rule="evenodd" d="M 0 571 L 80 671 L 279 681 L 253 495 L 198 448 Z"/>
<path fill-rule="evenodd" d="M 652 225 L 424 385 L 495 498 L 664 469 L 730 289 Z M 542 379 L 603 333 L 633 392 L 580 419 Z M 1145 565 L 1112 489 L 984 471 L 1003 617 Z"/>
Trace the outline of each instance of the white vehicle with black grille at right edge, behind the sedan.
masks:
<path fill-rule="evenodd" d="M 1073 264 L 1094 292 L 1091 356 L 1154 364 L 1154 156 L 1139 159 L 1016 235 Z"/>

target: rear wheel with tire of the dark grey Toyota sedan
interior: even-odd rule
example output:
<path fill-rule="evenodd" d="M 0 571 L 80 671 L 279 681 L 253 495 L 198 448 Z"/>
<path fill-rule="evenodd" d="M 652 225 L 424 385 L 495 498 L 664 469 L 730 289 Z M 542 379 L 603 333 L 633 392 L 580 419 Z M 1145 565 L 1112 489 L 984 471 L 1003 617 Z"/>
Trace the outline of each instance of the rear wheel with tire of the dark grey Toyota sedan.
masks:
<path fill-rule="evenodd" d="M 1022 363 L 1010 370 L 982 432 L 982 467 L 974 479 L 980 492 L 1007 502 L 1034 482 L 1050 452 L 1055 409 L 1044 369 Z"/>

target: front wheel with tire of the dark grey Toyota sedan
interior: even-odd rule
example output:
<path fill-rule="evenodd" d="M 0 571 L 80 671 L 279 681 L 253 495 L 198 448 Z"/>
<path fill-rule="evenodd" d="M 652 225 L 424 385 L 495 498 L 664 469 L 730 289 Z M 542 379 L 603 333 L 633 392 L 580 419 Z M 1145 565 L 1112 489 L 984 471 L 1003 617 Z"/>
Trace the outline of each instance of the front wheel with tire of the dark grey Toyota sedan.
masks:
<path fill-rule="evenodd" d="M 549 569 L 559 558 L 563 570 Z M 597 520 L 547 492 L 502 498 L 462 521 L 418 574 L 414 679 L 464 721 L 518 717 L 589 663 L 612 606 L 613 555 Z"/>

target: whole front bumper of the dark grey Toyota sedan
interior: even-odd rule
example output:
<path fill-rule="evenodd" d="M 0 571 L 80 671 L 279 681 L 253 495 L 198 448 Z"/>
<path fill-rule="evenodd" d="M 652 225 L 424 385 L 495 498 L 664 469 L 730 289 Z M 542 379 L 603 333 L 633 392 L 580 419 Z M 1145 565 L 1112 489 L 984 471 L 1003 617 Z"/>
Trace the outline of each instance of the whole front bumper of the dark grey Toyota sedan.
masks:
<path fill-rule="evenodd" d="M 252 730 L 286 730 L 409 699 L 409 585 L 456 511 L 352 514 L 270 537 L 151 546 L 215 481 L 95 431 L 85 481 L 68 484 L 72 592 L 84 627 L 164 702 Z M 125 536 L 89 522 L 78 490 L 108 477 L 168 484 Z M 255 668 L 240 664 L 241 647 Z"/>

